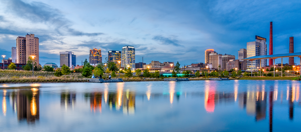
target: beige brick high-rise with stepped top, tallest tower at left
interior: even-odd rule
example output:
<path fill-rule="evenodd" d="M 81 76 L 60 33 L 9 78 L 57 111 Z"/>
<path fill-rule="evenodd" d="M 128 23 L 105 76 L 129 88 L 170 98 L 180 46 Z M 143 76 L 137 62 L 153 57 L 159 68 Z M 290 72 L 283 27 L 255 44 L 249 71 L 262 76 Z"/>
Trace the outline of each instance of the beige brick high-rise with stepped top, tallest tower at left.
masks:
<path fill-rule="evenodd" d="M 34 62 L 39 64 L 39 38 L 34 34 L 25 37 L 17 37 L 17 60 L 16 63 L 26 64 L 28 57 L 36 56 Z"/>

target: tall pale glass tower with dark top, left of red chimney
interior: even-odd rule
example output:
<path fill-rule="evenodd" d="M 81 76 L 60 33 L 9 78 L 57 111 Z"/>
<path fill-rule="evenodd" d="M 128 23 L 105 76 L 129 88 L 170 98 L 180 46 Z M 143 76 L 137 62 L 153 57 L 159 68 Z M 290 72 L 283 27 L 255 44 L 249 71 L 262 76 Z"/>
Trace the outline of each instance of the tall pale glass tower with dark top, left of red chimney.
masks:
<path fill-rule="evenodd" d="M 259 36 L 255 36 L 255 41 L 247 42 L 247 58 L 252 56 L 266 55 L 267 54 L 267 46 L 266 46 L 266 38 L 262 38 Z M 266 59 L 261 59 L 261 67 L 265 67 L 267 64 Z M 253 64 L 251 61 L 247 61 L 247 70 L 255 70 L 257 67 L 260 67 L 260 61 L 254 60 Z"/>

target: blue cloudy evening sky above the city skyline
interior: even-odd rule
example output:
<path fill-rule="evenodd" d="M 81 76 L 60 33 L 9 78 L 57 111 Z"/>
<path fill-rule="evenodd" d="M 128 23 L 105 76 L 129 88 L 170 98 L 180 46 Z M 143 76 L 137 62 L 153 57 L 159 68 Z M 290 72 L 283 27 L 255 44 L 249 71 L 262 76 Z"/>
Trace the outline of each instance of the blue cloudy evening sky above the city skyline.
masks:
<path fill-rule="evenodd" d="M 301 1 L 280 0 L 0 0 L 0 51 L 11 56 L 16 38 L 28 33 L 39 38 L 41 65 L 59 65 L 59 52 L 72 51 L 77 64 L 89 50 L 135 47 L 135 61 L 204 62 L 204 51 L 235 55 L 267 38 L 273 22 L 273 54 L 301 52 Z M 269 49 L 268 49 L 269 50 Z M 281 63 L 281 58 L 275 62 Z M 295 63 L 299 63 L 295 57 Z M 283 59 L 288 63 L 288 58 Z"/>

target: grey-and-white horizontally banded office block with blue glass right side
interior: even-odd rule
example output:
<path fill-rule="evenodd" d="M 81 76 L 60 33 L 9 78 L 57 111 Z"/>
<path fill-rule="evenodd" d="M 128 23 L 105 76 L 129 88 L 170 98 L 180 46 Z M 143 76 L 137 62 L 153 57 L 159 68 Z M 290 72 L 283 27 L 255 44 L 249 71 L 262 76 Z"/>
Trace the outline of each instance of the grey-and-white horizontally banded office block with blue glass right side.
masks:
<path fill-rule="evenodd" d="M 60 52 L 60 66 L 66 65 L 70 68 L 74 68 L 76 66 L 76 55 L 73 52 Z"/>

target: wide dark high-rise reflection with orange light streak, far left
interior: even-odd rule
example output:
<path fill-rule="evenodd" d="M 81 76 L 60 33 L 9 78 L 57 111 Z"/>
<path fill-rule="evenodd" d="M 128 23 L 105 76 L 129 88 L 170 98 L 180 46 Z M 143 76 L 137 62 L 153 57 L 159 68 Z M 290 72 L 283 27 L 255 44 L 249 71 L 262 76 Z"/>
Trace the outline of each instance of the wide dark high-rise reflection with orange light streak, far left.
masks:
<path fill-rule="evenodd" d="M 13 109 L 19 121 L 26 119 L 27 123 L 35 123 L 39 120 L 39 88 L 17 90 L 11 94 Z"/>

